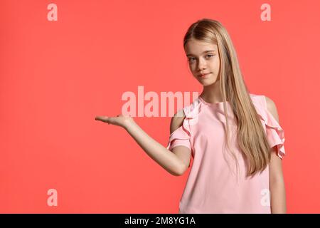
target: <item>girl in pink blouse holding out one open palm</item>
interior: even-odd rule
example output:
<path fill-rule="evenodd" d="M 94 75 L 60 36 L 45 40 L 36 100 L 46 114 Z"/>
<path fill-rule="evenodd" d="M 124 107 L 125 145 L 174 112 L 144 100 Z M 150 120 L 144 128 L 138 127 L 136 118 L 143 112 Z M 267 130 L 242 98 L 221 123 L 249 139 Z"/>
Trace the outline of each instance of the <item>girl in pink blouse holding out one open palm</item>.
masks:
<path fill-rule="evenodd" d="M 95 120 L 127 130 L 172 175 L 191 167 L 179 213 L 285 213 L 284 130 L 276 105 L 248 92 L 233 43 L 219 21 L 191 24 L 183 47 L 203 91 L 171 118 L 167 147 L 130 116 Z"/>

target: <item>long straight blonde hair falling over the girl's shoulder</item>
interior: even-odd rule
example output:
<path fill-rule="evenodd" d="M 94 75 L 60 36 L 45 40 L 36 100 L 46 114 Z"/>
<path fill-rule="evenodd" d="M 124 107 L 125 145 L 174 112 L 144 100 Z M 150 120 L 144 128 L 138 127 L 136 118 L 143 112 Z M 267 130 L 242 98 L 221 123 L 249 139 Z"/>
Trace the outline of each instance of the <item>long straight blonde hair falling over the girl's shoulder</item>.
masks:
<path fill-rule="evenodd" d="M 195 39 L 198 41 L 214 43 L 218 46 L 220 56 L 220 90 L 223 95 L 223 109 L 226 120 L 227 147 L 230 149 L 230 127 L 228 122 L 228 108 L 226 101 L 230 102 L 235 123 L 237 124 L 237 142 L 245 157 L 247 176 L 254 176 L 257 172 L 266 169 L 270 162 L 271 148 L 268 144 L 265 130 L 252 103 L 247 86 L 242 79 L 235 48 L 225 27 L 213 19 L 201 19 L 191 24 L 183 38 L 183 47 Z M 238 160 L 235 153 L 237 170 Z"/>

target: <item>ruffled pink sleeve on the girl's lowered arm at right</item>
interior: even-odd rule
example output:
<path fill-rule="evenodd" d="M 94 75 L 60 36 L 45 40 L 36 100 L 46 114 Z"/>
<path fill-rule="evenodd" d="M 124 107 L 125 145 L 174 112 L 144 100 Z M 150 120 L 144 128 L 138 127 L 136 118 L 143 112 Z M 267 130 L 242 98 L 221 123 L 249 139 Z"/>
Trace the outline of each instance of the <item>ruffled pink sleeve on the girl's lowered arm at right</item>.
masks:
<path fill-rule="evenodd" d="M 284 130 L 279 125 L 274 116 L 267 109 L 267 101 L 265 96 L 261 96 L 260 103 L 257 105 L 257 113 L 264 123 L 265 133 L 270 147 L 276 147 L 277 155 L 282 159 L 285 155 L 284 151 Z"/>

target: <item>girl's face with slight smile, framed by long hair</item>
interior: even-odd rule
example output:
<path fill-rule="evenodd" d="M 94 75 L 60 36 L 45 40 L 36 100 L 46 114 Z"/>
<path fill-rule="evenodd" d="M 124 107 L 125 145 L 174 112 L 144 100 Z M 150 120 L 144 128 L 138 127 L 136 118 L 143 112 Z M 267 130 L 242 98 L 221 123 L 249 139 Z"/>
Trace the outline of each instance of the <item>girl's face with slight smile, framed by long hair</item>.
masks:
<path fill-rule="evenodd" d="M 216 44 L 191 39 L 186 43 L 184 51 L 193 76 L 203 86 L 219 81 L 220 58 Z"/>

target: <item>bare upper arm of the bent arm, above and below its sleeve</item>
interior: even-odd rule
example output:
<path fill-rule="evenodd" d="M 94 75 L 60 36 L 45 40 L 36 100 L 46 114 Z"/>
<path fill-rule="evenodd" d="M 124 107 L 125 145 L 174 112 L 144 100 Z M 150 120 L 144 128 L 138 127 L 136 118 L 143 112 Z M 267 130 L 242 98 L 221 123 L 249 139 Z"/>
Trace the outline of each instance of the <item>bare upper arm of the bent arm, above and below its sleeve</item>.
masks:
<path fill-rule="evenodd" d="M 186 115 L 184 115 L 183 110 L 178 111 L 174 117 L 171 118 L 170 134 L 181 127 L 184 118 L 186 118 Z M 183 162 L 185 167 L 182 171 L 185 172 L 190 164 L 191 150 L 183 145 L 178 145 L 172 148 L 171 151 Z"/>

